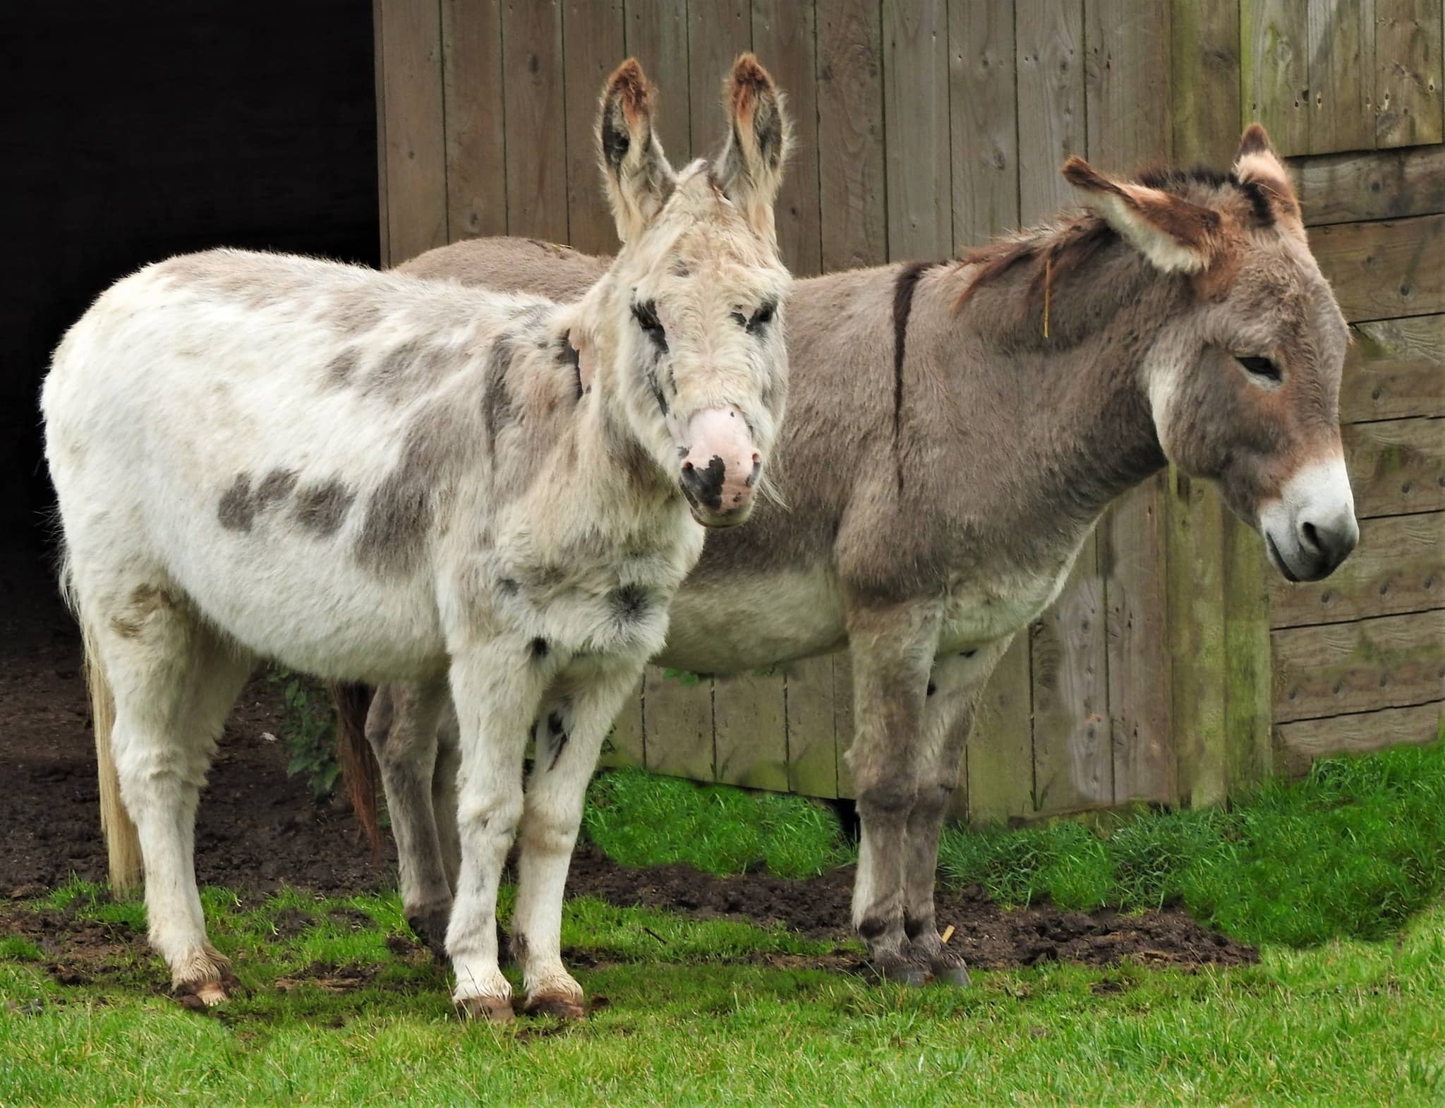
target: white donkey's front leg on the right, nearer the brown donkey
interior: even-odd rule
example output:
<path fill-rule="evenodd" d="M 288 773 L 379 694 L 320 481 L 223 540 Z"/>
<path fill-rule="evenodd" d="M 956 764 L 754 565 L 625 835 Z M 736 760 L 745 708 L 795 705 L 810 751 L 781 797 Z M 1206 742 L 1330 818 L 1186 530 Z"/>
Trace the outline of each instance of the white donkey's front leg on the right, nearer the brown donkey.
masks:
<path fill-rule="evenodd" d="M 526 1011 L 587 1014 L 582 988 L 562 965 L 562 890 L 582 822 L 587 783 L 613 719 L 642 676 L 642 662 L 598 667 L 553 696 L 536 725 L 517 857 L 512 952 L 526 982 Z"/>

